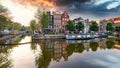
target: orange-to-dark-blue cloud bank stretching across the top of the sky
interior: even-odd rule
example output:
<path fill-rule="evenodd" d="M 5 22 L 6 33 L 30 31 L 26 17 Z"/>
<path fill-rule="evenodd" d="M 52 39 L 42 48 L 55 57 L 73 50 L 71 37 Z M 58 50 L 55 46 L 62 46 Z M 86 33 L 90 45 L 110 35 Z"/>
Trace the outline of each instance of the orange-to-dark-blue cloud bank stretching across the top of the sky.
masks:
<path fill-rule="evenodd" d="M 119 13 L 120 0 L 11 0 L 11 1 L 19 2 L 25 5 L 31 4 L 33 6 L 41 7 L 47 6 L 50 9 L 55 8 L 60 11 L 61 10 L 68 11 L 73 16 L 77 15 L 97 19 L 115 17 L 119 16 L 120 14 Z"/>

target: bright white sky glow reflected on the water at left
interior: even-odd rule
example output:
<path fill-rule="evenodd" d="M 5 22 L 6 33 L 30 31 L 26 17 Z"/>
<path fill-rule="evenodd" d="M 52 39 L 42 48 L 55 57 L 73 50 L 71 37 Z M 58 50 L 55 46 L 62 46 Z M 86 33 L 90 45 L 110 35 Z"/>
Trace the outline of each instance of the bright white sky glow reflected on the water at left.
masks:
<path fill-rule="evenodd" d="M 31 42 L 31 37 L 25 37 L 20 43 Z M 18 45 L 13 48 L 11 57 L 13 59 L 13 68 L 36 68 L 35 52 L 30 48 L 31 44 Z"/>

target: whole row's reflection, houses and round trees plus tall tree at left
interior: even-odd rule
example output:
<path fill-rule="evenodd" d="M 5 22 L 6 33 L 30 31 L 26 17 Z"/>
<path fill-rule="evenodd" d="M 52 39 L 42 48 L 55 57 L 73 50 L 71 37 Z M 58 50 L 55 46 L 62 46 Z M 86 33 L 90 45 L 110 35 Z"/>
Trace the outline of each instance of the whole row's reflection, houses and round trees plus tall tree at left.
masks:
<path fill-rule="evenodd" d="M 36 65 L 38 68 L 47 68 L 51 61 L 60 62 L 63 58 L 68 61 L 73 53 L 83 53 L 89 51 L 99 51 L 113 49 L 114 39 L 93 39 L 93 40 L 33 40 L 32 49 L 35 45 L 42 49 L 42 55 L 36 56 Z"/>

